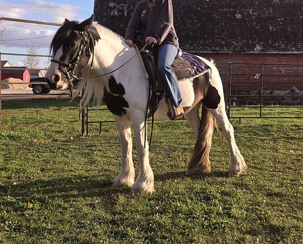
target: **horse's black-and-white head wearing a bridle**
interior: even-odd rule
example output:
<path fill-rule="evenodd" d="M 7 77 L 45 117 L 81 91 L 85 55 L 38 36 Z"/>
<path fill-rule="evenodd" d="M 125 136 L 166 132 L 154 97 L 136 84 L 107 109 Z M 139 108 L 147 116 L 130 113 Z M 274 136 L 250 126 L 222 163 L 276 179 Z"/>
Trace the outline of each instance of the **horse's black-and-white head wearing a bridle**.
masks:
<path fill-rule="evenodd" d="M 96 41 L 89 29 L 93 19 L 93 15 L 81 23 L 65 19 L 56 32 L 50 49 L 53 59 L 45 76 L 53 89 L 67 89 L 73 76 L 88 64 Z"/>

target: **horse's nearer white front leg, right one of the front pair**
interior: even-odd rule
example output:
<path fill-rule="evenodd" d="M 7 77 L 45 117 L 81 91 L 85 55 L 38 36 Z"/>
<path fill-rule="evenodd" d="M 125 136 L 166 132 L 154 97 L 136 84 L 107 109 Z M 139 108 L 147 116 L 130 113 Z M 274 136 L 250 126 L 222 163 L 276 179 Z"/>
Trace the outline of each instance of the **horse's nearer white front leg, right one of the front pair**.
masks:
<path fill-rule="evenodd" d="M 144 114 L 139 112 L 133 117 L 133 129 L 136 137 L 137 152 L 140 159 L 140 172 L 131 188 L 133 193 L 153 193 L 154 172 L 149 165 L 149 152 L 145 131 Z M 145 148 L 144 148 L 145 143 Z"/>

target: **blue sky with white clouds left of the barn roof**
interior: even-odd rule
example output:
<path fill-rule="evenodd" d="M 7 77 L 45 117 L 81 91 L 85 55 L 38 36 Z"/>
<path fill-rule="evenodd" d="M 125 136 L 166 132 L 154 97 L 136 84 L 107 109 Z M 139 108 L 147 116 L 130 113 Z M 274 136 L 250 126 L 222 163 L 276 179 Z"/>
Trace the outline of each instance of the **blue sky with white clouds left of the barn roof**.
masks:
<path fill-rule="evenodd" d="M 90 17 L 93 13 L 93 5 L 94 0 L 0 0 L 0 16 L 55 23 L 63 23 L 65 18 L 82 21 Z M 4 33 L 5 40 L 54 35 L 58 28 L 10 21 L 3 21 L 1 25 L 6 28 Z M 30 41 L 33 41 L 36 45 L 40 46 L 39 54 L 48 53 L 51 37 L 33 40 L 5 41 L 7 43 L 0 43 L 0 51 L 25 53 L 25 46 L 22 45 L 27 45 Z M 14 66 L 21 66 L 22 58 L 23 57 L 2 56 L 3 60 L 10 60 Z M 40 63 L 41 68 L 44 68 L 47 64 L 47 59 L 42 58 Z"/>

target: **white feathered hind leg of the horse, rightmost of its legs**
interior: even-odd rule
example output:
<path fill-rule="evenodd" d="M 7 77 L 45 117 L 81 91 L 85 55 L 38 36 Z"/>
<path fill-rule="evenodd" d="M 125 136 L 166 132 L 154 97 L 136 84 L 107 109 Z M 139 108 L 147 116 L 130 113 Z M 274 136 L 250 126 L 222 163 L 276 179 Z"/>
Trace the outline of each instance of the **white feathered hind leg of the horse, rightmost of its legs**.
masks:
<path fill-rule="evenodd" d="M 210 109 L 210 111 L 217 119 L 218 124 L 223 130 L 224 136 L 229 144 L 229 149 L 231 154 L 229 174 L 230 175 L 244 174 L 246 172 L 247 166 L 236 145 L 234 138 L 234 130 L 226 115 L 224 100 L 222 99 L 222 101 L 218 105 L 218 108 Z"/>

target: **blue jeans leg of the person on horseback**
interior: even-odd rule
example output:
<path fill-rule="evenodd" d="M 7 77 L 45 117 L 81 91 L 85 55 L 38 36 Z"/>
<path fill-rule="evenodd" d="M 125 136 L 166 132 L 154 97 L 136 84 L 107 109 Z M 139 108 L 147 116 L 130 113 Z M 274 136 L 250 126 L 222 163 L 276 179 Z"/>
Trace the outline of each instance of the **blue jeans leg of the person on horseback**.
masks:
<path fill-rule="evenodd" d="M 170 98 L 175 107 L 178 107 L 182 102 L 178 79 L 171 68 L 177 53 L 178 48 L 173 44 L 165 43 L 158 46 L 158 69 L 163 75 Z"/>

